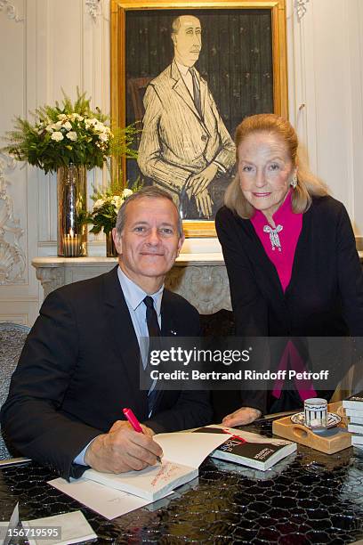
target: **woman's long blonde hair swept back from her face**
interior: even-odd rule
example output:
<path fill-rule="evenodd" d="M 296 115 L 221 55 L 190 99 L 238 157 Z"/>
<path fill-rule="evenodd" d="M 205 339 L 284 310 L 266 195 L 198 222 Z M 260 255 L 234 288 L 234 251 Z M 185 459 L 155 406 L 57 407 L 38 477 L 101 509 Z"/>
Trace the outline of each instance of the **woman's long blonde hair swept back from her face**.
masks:
<path fill-rule="evenodd" d="M 238 163 L 238 148 L 247 136 L 254 133 L 269 133 L 278 136 L 285 142 L 294 167 L 296 167 L 297 185 L 292 194 L 292 207 L 295 214 L 306 212 L 311 206 L 311 197 L 322 197 L 328 194 L 327 185 L 313 175 L 308 167 L 308 161 L 302 147 L 299 145 L 294 127 L 287 119 L 276 114 L 257 114 L 245 118 L 236 129 L 236 156 Z M 224 195 L 224 204 L 233 212 L 245 219 L 254 215 L 254 207 L 246 200 L 243 194 L 239 175 L 227 188 Z"/>

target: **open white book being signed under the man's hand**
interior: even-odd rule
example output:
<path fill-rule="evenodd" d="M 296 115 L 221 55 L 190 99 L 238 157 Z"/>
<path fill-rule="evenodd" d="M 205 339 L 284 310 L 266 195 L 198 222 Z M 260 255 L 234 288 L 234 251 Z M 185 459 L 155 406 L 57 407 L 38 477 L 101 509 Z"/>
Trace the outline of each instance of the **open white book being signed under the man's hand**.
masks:
<path fill-rule="evenodd" d="M 164 498 L 173 488 L 198 476 L 198 468 L 206 456 L 226 441 L 226 435 L 173 433 L 154 435 L 163 449 L 162 463 L 141 471 L 101 473 L 87 469 L 84 477 L 111 488 L 130 492 L 145 500 Z"/>

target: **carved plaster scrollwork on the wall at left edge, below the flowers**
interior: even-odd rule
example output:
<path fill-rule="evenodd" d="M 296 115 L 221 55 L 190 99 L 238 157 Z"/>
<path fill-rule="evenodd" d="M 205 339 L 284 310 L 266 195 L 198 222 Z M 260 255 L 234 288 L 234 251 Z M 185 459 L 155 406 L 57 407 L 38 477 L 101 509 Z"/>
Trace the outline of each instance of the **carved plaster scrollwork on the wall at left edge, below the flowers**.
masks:
<path fill-rule="evenodd" d="M 23 230 L 14 218 L 12 198 L 6 192 L 9 182 L 4 170 L 15 167 L 14 159 L 0 151 L 0 285 L 25 282 L 25 254 L 20 247 Z"/>

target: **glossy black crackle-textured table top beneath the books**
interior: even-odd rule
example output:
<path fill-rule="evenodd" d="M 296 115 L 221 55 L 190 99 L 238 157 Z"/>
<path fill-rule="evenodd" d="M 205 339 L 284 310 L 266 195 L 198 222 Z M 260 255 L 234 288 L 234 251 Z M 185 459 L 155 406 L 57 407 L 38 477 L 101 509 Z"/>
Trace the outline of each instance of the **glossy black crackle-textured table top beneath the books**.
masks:
<path fill-rule="evenodd" d="M 248 431 L 270 435 L 269 421 Z M 363 538 L 363 451 L 333 455 L 298 445 L 296 454 L 262 472 L 210 458 L 199 477 L 168 498 L 112 521 L 45 481 L 36 463 L 0 470 L 0 520 L 15 503 L 20 518 L 81 509 L 98 543 L 351 543 Z"/>

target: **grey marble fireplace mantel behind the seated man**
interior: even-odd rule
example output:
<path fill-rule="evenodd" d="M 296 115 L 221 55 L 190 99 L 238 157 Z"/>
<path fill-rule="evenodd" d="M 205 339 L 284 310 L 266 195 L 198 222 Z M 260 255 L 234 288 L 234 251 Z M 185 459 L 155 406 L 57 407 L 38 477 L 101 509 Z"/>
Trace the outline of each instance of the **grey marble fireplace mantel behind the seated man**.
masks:
<path fill-rule="evenodd" d="M 53 289 L 108 273 L 116 257 L 36 257 L 36 278 L 46 297 Z M 165 279 L 165 286 L 185 297 L 201 314 L 231 310 L 230 286 L 221 253 L 181 254 Z"/>

